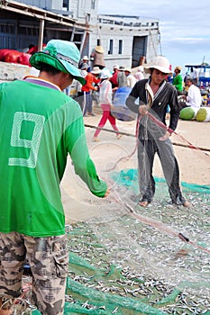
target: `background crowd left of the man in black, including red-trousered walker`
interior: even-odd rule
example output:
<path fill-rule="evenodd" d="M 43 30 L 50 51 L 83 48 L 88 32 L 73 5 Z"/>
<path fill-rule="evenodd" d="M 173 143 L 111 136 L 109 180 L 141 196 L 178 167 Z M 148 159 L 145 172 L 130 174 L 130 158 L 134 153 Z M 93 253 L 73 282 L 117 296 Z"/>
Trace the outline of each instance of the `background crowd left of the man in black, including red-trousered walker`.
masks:
<path fill-rule="evenodd" d="M 102 118 L 98 123 L 98 127 L 105 126 L 106 121 L 110 121 L 111 126 L 116 131 L 116 138 L 122 136 L 117 131 L 116 119 L 111 113 L 114 108 L 113 100 L 114 93 L 120 87 L 132 88 L 135 83 L 144 77 L 143 67 L 137 68 L 137 71 L 132 75 L 130 67 L 114 65 L 112 70 L 105 67 L 104 49 L 102 46 L 96 46 L 90 58 L 83 56 L 79 62 L 81 76 L 86 80 L 85 85 L 81 85 L 74 80 L 73 85 L 76 86 L 73 98 L 79 103 L 84 117 L 96 116 L 93 104 L 99 105 L 102 109 Z M 70 88 L 66 93 L 70 94 Z M 100 130 L 96 130 L 93 140 L 99 141 L 98 134 Z"/>

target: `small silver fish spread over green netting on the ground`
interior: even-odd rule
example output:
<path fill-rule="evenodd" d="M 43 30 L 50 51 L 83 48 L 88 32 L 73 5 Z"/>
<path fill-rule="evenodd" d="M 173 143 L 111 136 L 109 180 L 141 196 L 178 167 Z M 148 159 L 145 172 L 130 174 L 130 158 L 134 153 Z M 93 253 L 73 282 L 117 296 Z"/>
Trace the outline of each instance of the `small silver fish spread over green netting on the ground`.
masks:
<path fill-rule="evenodd" d="M 67 226 L 69 253 L 78 257 L 70 262 L 68 277 L 90 293 L 79 295 L 69 284 L 67 302 L 93 314 L 209 315 L 210 196 L 187 192 L 192 207 L 185 209 L 160 202 L 158 195 L 142 209 L 122 187 L 115 189 L 123 201 L 110 200 L 103 217 Z M 128 202 L 140 220 L 126 209 Z M 156 225 L 145 224 L 142 217 Z M 191 242 L 178 238 L 178 232 Z M 94 290 L 105 294 L 104 304 L 91 298 Z M 129 308 L 129 302 L 142 302 L 142 311 Z"/>

